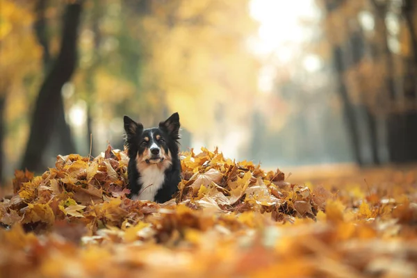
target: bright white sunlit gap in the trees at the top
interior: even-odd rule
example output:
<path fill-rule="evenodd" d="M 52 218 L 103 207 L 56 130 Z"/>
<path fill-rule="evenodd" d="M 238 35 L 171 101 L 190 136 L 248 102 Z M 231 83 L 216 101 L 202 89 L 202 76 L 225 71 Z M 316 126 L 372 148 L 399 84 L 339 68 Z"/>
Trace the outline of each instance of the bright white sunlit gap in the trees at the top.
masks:
<path fill-rule="evenodd" d="M 258 38 L 251 42 L 254 54 L 263 59 L 258 87 L 261 92 L 270 93 L 275 79 L 275 70 L 271 68 L 291 63 L 300 56 L 302 43 L 311 40 L 311 31 L 306 30 L 302 19 L 317 19 L 320 12 L 313 0 L 252 0 L 250 14 L 259 22 Z M 322 61 L 307 56 L 303 65 L 314 72 L 320 70 Z"/>

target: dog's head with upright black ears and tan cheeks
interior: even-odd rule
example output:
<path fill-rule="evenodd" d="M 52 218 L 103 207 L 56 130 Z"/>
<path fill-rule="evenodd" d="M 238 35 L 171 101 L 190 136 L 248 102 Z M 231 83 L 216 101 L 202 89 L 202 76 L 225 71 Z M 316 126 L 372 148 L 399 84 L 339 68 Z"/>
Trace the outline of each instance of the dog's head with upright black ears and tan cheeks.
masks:
<path fill-rule="evenodd" d="M 129 157 L 136 158 L 138 168 L 149 165 L 167 167 L 179 152 L 179 115 L 172 114 L 159 126 L 143 129 L 143 125 L 124 116 L 126 147 Z"/>

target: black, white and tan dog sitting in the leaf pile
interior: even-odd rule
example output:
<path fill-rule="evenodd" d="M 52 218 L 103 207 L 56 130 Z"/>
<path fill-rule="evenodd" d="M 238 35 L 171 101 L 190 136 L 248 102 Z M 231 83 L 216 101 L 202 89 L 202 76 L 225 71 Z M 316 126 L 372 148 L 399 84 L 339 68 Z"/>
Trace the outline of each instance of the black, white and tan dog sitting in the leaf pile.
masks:
<path fill-rule="evenodd" d="M 158 127 L 143 125 L 124 115 L 125 147 L 130 199 L 164 203 L 177 193 L 181 181 L 179 161 L 179 114 L 172 114 Z"/>

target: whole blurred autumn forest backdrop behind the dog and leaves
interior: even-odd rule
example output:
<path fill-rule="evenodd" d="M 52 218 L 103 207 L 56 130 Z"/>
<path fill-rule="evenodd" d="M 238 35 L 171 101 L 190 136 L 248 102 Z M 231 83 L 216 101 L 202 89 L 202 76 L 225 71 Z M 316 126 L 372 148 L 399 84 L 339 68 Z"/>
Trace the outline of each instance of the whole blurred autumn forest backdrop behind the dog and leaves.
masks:
<path fill-rule="evenodd" d="M 416 28 L 414 0 L 0 0 L 2 184 L 176 111 L 183 150 L 412 163 Z"/>

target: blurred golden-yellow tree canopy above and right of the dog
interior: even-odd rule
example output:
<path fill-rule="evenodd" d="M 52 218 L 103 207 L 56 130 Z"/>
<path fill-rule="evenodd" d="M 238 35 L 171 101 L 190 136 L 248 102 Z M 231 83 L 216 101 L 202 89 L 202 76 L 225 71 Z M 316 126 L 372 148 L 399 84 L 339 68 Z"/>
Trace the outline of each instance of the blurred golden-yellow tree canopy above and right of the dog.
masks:
<path fill-rule="evenodd" d="M 164 99 L 194 133 L 212 130 L 216 117 L 242 122 L 253 107 L 257 76 L 246 43 L 256 24 L 247 9 L 247 1 L 236 0 L 154 1 L 142 19 L 149 58 L 141 84 L 150 103 Z"/>

